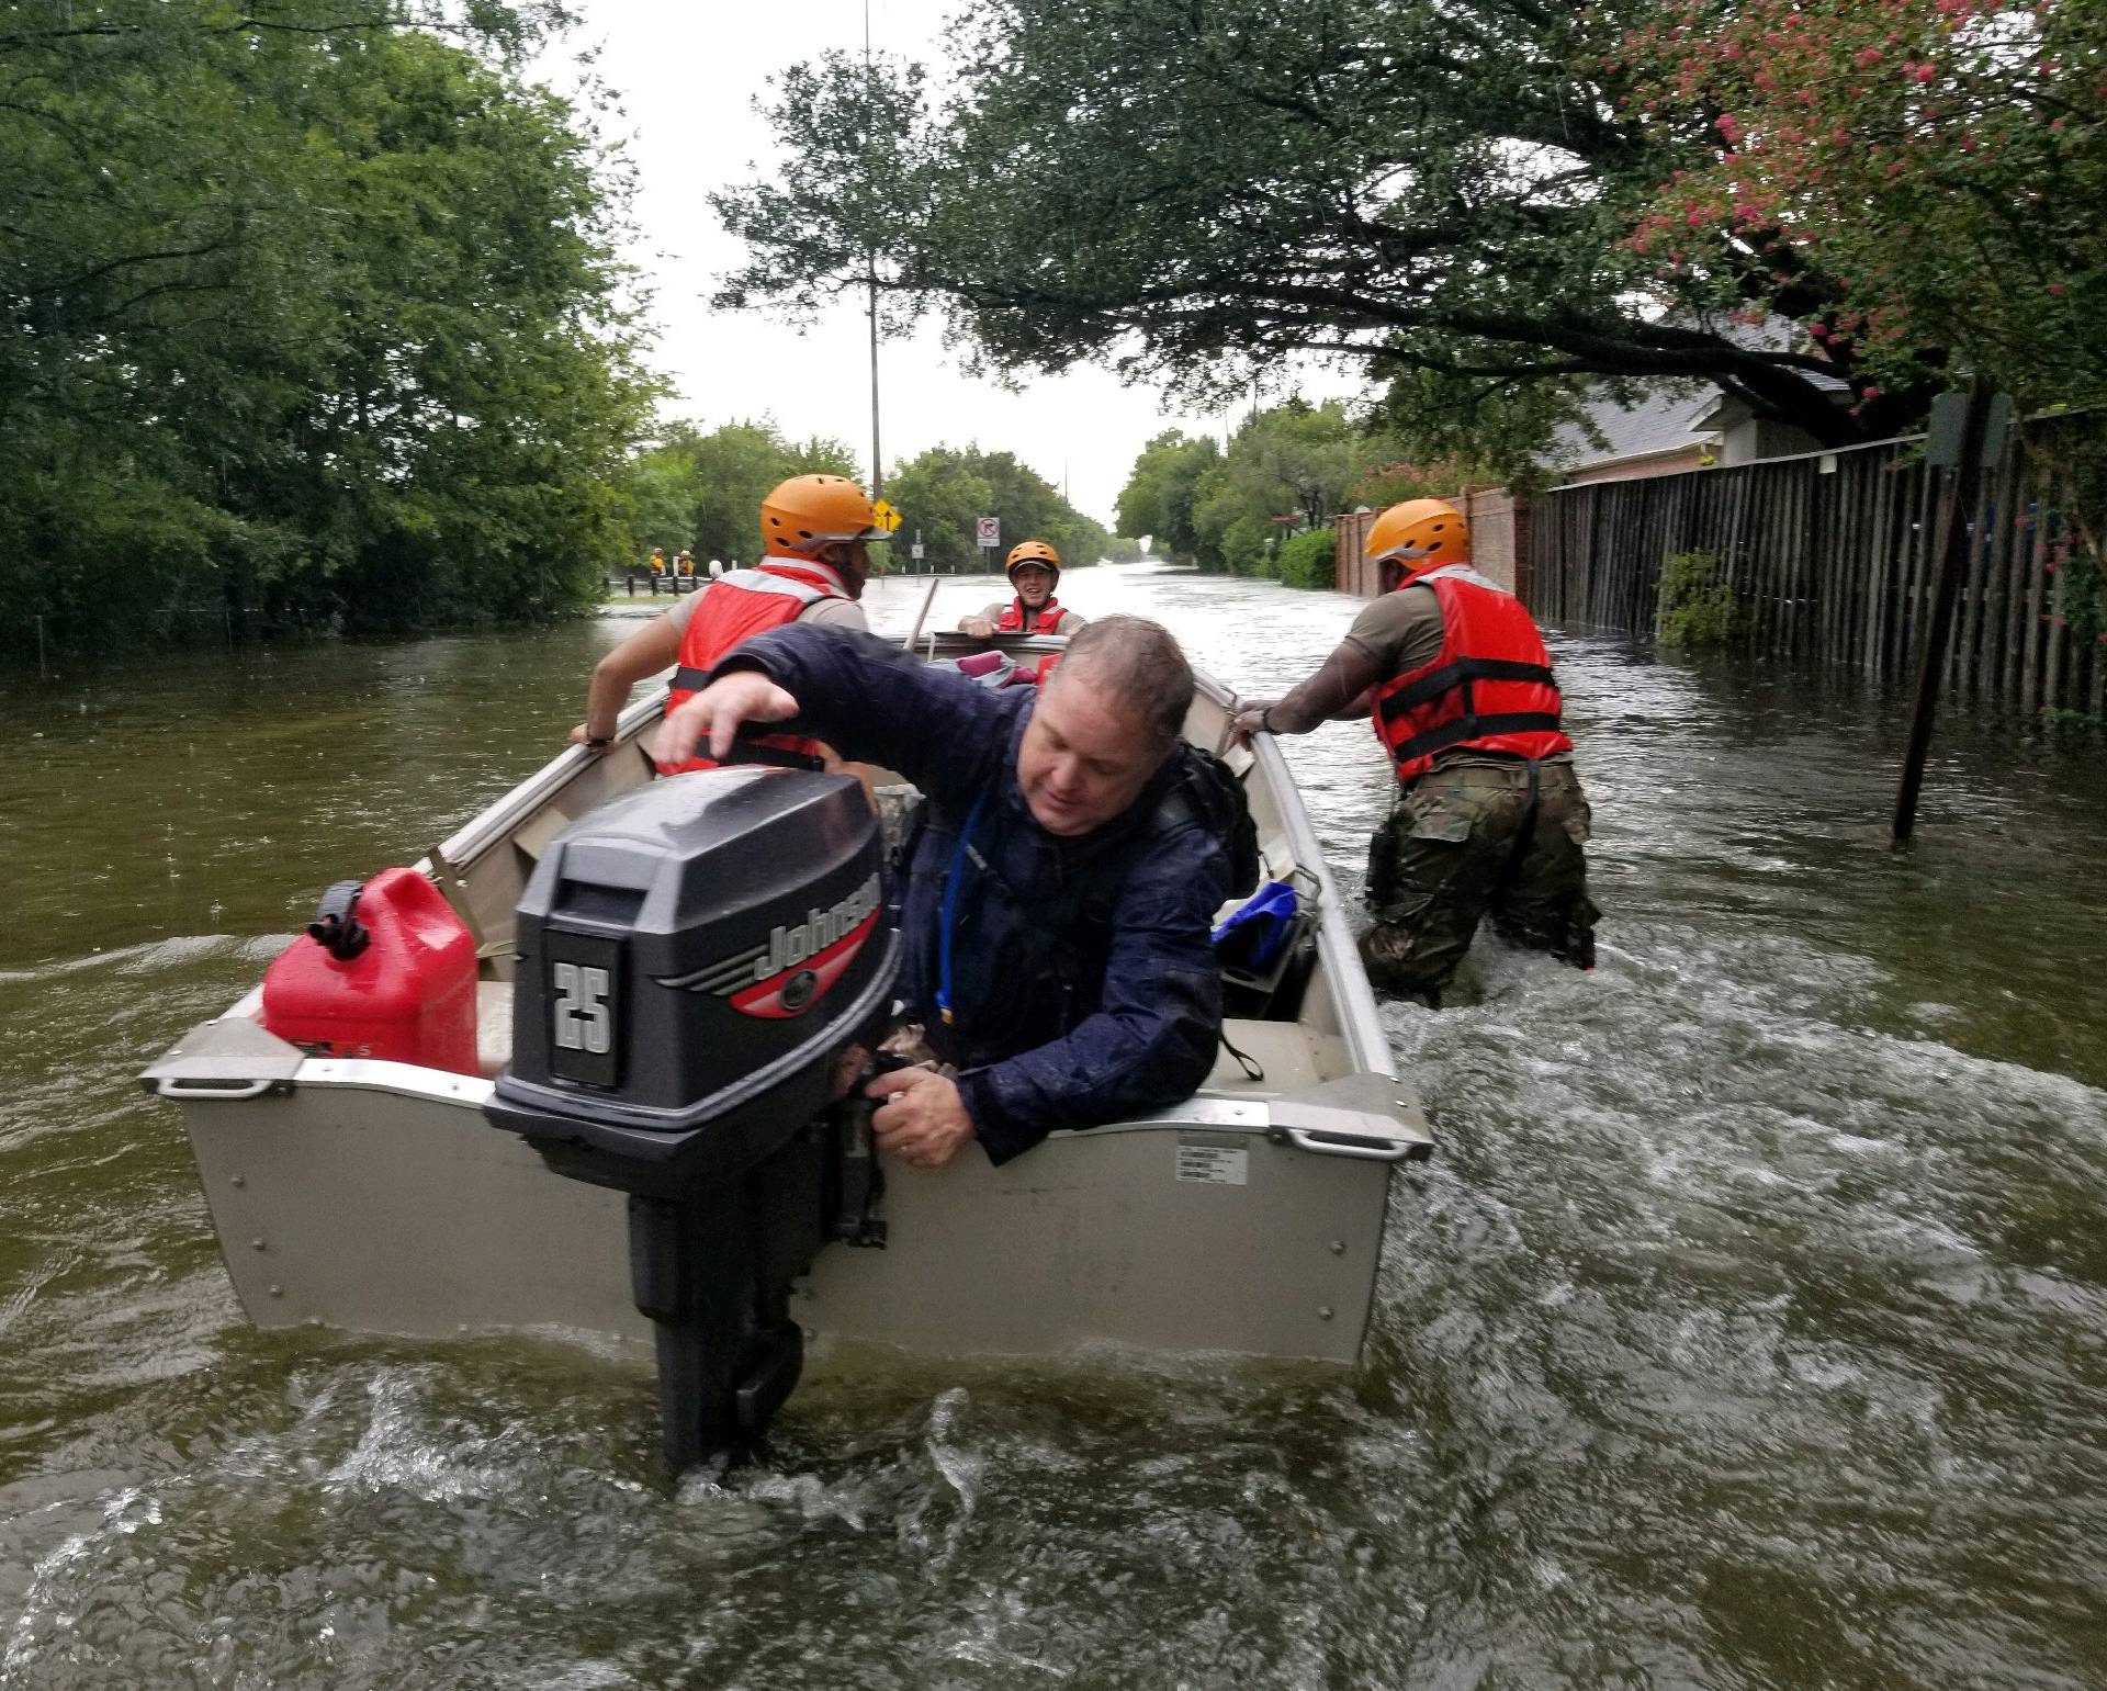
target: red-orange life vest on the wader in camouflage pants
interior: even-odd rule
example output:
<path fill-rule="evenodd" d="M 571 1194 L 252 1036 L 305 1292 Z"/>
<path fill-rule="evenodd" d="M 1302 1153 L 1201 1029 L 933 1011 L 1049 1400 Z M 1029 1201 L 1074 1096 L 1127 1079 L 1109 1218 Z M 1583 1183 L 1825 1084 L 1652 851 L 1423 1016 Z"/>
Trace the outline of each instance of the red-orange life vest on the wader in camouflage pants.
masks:
<path fill-rule="evenodd" d="M 1521 600 L 1469 564 L 1443 564 L 1403 583 L 1416 585 L 1441 600 L 1441 651 L 1433 663 L 1376 689 L 1376 737 L 1397 779 L 1424 775 L 1443 752 L 1532 760 L 1572 752 L 1559 731 L 1551 653 Z"/>

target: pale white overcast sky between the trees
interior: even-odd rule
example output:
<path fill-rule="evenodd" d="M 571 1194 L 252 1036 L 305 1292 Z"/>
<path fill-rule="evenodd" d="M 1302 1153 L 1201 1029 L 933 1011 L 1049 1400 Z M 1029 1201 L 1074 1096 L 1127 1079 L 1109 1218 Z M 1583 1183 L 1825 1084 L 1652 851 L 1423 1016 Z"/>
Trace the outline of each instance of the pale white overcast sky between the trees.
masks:
<path fill-rule="evenodd" d="M 636 223 L 657 284 L 657 369 L 678 398 L 668 413 L 704 427 L 771 415 L 792 436 L 832 434 L 870 457 L 868 329 L 849 305 L 805 335 L 759 312 L 718 314 L 712 280 L 742 244 L 710 213 L 708 192 L 767 168 L 771 137 L 754 95 L 786 65 L 830 46 L 860 48 L 862 0 L 573 0 L 579 32 L 541 65 L 569 93 L 567 61 L 598 48 L 596 74 L 622 114 L 603 112 L 611 135 L 630 137 L 638 171 Z M 877 46 L 940 63 L 948 0 L 870 0 Z M 1112 524 L 1112 505 L 1134 455 L 1163 427 L 1220 430 L 1220 417 L 1182 415 L 1148 387 L 1121 387 L 1100 369 L 1035 381 L 1011 394 L 963 375 L 936 324 L 881 350 L 887 467 L 927 446 L 1011 451 L 1056 486 L 1066 476 L 1075 505 Z M 1338 377 L 1313 383 L 1344 392 Z"/>

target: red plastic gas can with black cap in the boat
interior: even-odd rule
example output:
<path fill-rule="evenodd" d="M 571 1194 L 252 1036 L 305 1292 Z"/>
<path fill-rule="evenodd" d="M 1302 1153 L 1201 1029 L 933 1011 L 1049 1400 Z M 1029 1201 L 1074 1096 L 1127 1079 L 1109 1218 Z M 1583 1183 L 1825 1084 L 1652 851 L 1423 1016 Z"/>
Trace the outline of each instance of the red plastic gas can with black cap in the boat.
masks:
<path fill-rule="evenodd" d="M 263 971 L 263 1026 L 312 1057 L 474 1074 L 476 939 L 415 870 L 335 887 Z"/>

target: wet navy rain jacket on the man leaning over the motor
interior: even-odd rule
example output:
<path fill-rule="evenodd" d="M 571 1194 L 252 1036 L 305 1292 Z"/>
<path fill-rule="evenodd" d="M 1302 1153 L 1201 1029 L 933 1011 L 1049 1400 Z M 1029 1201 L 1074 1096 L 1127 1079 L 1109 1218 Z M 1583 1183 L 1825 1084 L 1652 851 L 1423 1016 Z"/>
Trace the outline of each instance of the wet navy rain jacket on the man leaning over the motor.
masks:
<path fill-rule="evenodd" d="M 1209 927 L 1235 889 L 1226 815 L 1195 752 L 1180 748 L 1123 817 L 1060 838 L 1018 785 L 1037 687 L 990 693 L 872 636 L 809 625 L 748 640 L 716 674 L 733 670 L 765 672 L 796 695 L 799 731 L 898 769 L 927 796 L 895 887 L 902 992 L 931 1047 L 957 1063 L 990 1160 L 1199 1089 L 1222 1032 Z M 944 880 L 976 800 L 946 1028 L 936 1009 Z"/>

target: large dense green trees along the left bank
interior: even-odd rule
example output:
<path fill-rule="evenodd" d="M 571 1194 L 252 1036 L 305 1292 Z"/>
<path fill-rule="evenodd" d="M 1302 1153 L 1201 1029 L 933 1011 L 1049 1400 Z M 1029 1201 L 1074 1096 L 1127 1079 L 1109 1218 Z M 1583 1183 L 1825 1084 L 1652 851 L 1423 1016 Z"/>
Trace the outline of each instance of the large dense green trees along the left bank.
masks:
<path fill-rule="evenodd" d="M 510 69 L 552 11 L 8 8 L 0 646 L 590 596 L 653 383 L 622 181 Z"/>

